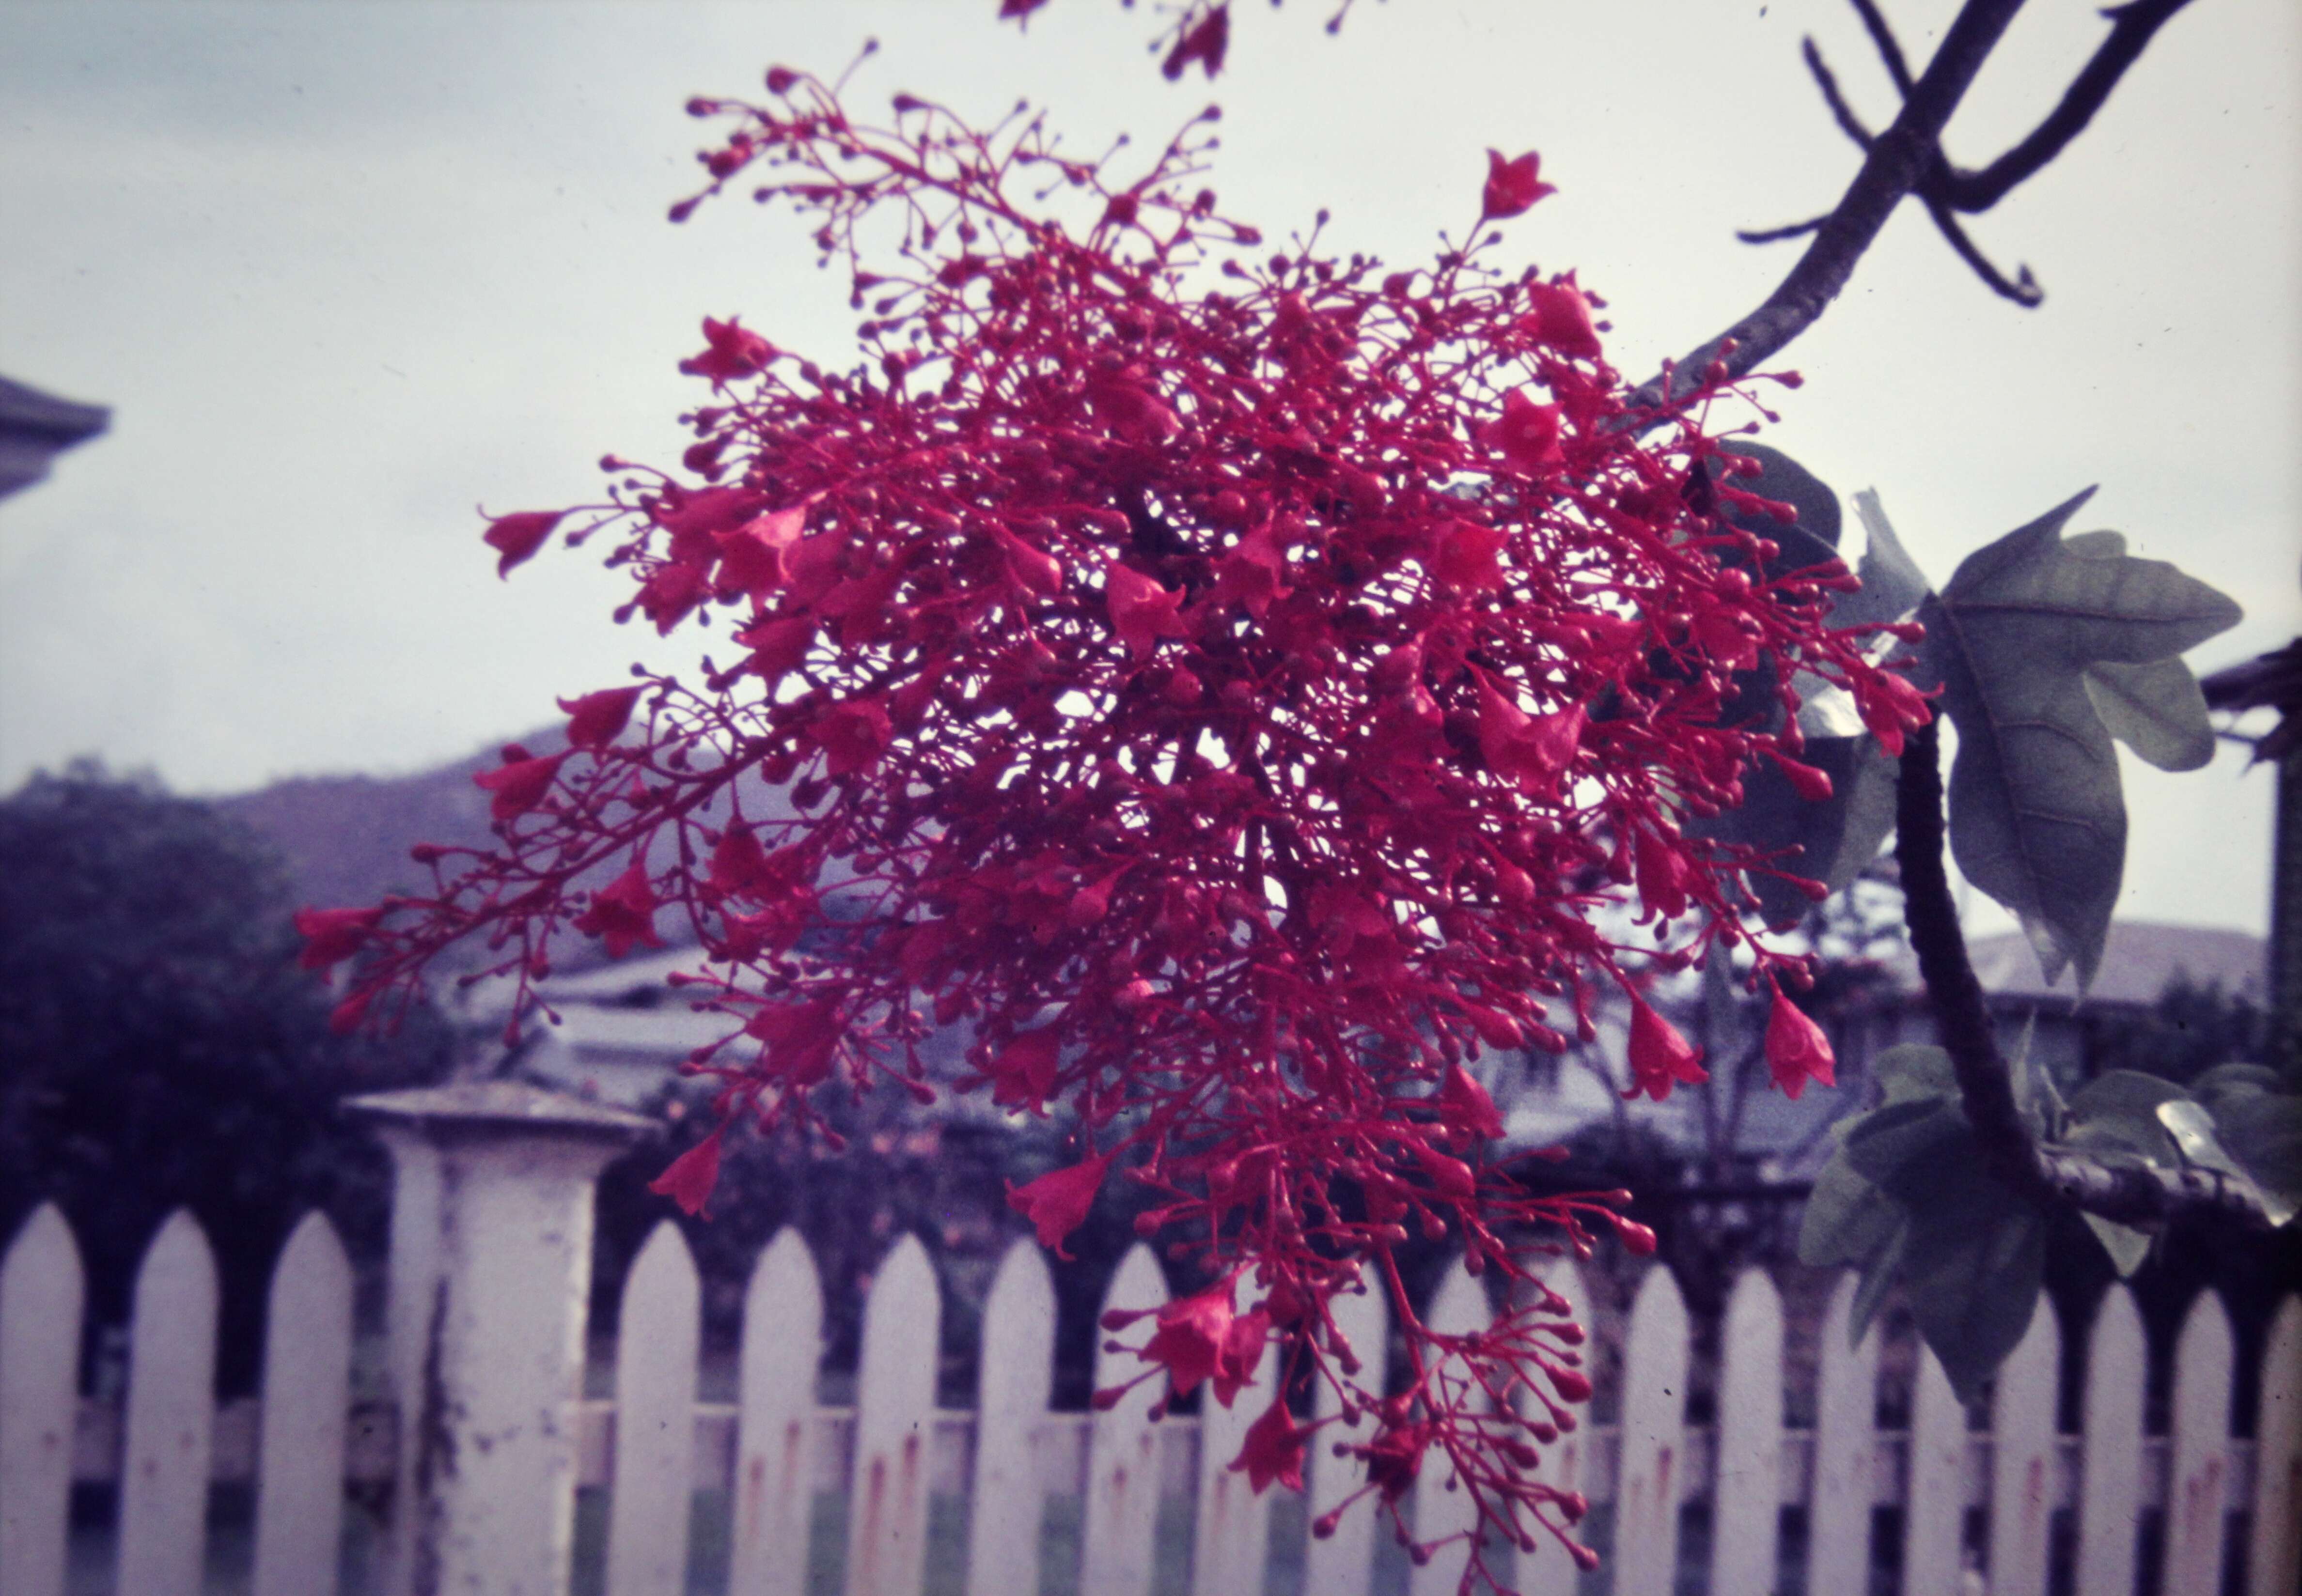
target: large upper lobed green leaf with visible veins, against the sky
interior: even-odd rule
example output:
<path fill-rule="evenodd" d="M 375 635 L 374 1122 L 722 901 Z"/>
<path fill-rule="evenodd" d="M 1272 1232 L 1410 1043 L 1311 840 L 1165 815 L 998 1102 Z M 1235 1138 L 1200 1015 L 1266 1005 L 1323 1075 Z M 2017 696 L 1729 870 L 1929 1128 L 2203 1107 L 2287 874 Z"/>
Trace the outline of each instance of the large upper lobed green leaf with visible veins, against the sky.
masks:
<path fill-rule="evenodd" d="M 2125 872 L 2118 757 L 2086 688 L 2099 662 L 2145 665 L 2235 626 L 2238 605 L 2152 559 L 2063 524 L 2079 494 L 1968 554 L 1927 600 L 1927 676 L 1959 729 L 1950 849 L 1977 888 L 2014 911 L 2049 980 L 2088 987 Z"/>

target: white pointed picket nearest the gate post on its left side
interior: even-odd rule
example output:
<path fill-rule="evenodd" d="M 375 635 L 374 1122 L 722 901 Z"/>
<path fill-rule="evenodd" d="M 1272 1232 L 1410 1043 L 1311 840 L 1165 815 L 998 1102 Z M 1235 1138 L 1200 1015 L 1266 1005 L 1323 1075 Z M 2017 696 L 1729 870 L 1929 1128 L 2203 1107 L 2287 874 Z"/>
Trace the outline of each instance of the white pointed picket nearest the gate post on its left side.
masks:
<path fill-rule="evenodd" d="M 265 1299 L 256 1596 L 331 1596 L 343 1539 L 352 1263 L 327 1214 L 288 1235 Z"/>

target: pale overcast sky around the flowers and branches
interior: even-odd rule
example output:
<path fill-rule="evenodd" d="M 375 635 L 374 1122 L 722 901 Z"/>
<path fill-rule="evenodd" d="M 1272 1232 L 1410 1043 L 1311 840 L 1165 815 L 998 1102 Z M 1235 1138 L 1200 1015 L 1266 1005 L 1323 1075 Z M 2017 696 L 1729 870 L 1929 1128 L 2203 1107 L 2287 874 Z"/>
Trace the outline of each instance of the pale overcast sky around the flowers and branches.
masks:
<path fill-rule="evenodd" d="M 1146 60 L 1149 7 L 1052 0 L 734 7 L 30 5 L 0 0 L 0 373 L 113 407 L 113 430 L 0 504 L 0 789 L 74 754 L 221 793 L 401 773 L 552 718 L 552 697 L 693 658 L 608 623 L 589 554 L 500 584 L 474 504 L 599 492 L 670 465 L 702 315 L 845 363 L 845 290 L 790 216 L 663 221 L 698 177 L 693 92 L 762 67 L 914 90 L 992 120 L 1017 97 L 1080 149 L 1225 106 L 1213 186 L 1273 239 L 1404 264 L 1476 209 L 1485 149 L 1561 191 L 1510 248 L 1611 301 L 1644 375 L 1715 333 L 1796 246 L 1736 228 L 1837 200 L 1855 152 L 1798 62 L 1814 32 L 1874 124 L 1892 90 L 1823 0 L 1241 0 L 1213 92 Z M 1950 0 L 1888 0 L 1913 55 Z M 1952 124 L 1982 161 L 2102 37 L 2037 0 Z M 1938 582 L 2086 483 L 2088 527 L 2247 607 L 2194 655 L 2302 626 L 2302 7 L 2196 0 L 2097 124 L 1973 232 L 2046 306 L 1994 299 L 1918 207 L 1777 366 L 1770 442 L 1876 488 Z M 2129 761 L 2122 915 L 2265 922 L 2270 780 Z M 1991 929 L 1991 927 L 1977 927 Z"/>

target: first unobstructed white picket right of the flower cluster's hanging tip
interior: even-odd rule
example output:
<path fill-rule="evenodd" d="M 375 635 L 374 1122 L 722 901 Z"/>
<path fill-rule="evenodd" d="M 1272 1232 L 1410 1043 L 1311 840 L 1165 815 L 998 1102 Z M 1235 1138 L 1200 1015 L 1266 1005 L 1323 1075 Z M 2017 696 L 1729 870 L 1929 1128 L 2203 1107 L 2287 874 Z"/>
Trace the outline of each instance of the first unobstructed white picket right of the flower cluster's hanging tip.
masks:
<path fill-rule="evenodd" d="M 1678 1580 L 1678 1495 L 1685 1486 L 1687 1299 L 1669 1269 L 1648 1269 L 1623 1343 L 1623 1463 L 1614 1502 L 1614 1587 L 1669 1591 Z"/>

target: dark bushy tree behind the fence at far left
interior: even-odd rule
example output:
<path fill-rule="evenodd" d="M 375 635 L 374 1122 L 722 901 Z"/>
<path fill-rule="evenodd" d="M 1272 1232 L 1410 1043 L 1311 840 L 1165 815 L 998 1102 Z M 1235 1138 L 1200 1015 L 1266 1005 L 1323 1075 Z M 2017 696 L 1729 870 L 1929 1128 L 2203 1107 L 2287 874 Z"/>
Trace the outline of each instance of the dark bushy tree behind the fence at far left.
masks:
<path fill-rule="evenodd" d="M 449 1060 L 428 1010 L 389 1042 L 329 1035 L 297 947 L 279 860 L 203 803 L 87 764 L 0 800 L 0 1237 L 55 1200 L 90 1320 L 117 1325 L 189 1207 L 221 1269 L 228 1391 L 256 1378 L 272 1260 L 308 1207 L 382 1253 L 389 1168 L 336 1099 Z"/>

